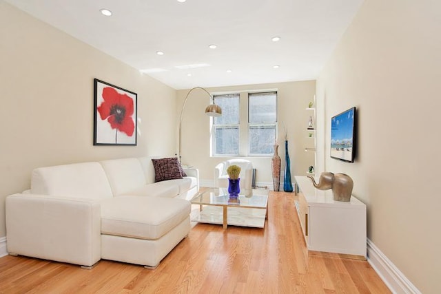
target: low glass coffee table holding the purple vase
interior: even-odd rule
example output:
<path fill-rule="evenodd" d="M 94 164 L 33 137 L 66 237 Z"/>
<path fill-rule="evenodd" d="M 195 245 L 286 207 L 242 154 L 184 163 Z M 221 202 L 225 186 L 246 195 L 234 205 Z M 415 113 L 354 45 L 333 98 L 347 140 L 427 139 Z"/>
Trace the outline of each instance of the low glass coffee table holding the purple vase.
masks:
<path fill-rule="evenodd" d="M 191 200 L 199 205 L 192 221 L 240 227 L 263 228 L 268 217 L 268 190 L 240 191 L 237 199 L 230 198 L 226 188 L 209 188 Z M 193 213 L 192 213 L 193 214 Z"/>

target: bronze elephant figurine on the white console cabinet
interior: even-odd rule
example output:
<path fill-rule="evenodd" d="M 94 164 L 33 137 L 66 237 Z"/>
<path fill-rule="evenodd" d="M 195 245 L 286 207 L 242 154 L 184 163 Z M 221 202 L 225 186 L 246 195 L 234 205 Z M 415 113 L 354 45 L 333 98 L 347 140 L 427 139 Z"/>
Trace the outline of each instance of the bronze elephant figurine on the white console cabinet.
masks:
<path fill-rule="evenodd" d="M 349 202 L 353 189 L 353 180 L 347 174 L 333 174 L 329 171 L 320 174 L 319 182 L 316 183 L 313 177 L 308 176 L 312 180 L 312 185 L 319 190 L 332 189 L 332 195 L 335 201 Z"/>

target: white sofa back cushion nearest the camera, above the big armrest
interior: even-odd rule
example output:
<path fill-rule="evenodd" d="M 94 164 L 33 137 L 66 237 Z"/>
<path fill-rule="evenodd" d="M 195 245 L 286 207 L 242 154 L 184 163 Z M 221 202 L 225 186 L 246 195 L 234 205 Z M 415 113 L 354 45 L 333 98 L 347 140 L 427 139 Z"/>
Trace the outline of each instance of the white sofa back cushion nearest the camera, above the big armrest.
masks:
<path fill-rule="evenodd" d="M 112 197 L 109 180 L 98 162 L 39 167 L 32 171 L 32 194 L 103 199 Z"/>

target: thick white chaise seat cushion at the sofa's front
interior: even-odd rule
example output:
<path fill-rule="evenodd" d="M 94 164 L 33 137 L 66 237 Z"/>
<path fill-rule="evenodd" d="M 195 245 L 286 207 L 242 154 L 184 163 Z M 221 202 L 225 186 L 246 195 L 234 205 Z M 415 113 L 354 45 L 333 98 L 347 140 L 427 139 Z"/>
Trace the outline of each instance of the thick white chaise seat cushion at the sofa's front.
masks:
<path fill-rule="evenodd" d="M 188 218 L 187 200 L 119 196 L 101 202 L 101 233 L 156 240 Z"/>

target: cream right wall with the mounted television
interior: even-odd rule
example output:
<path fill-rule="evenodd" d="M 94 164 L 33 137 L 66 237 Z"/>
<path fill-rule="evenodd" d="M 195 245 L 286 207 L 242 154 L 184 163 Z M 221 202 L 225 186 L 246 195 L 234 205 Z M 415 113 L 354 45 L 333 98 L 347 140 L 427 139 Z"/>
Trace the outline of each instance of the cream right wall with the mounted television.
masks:
<path fill-rule="evenodd" d="M 441 293 L 440 32 L 440 1 L 366 0 L 317 81 L 323 169 L 353 178 L 369 239 L 422 293 Z M 352 106 L 351 164 L 329 158 L 329 137 Z"/>

